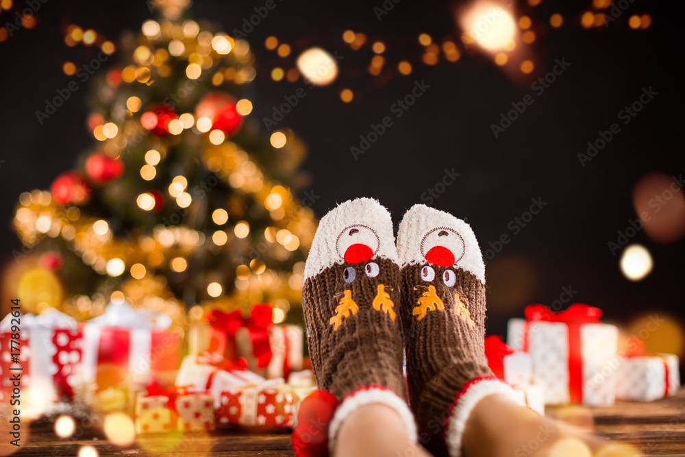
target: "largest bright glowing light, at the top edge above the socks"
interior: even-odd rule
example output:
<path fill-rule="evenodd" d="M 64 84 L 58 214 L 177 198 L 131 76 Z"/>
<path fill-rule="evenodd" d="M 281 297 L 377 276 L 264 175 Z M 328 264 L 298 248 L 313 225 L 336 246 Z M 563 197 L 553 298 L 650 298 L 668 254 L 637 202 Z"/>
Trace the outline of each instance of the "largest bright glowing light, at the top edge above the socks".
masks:
<path fill-rule="evenodd" d="M 501 5 L 484 0 L 476 3 L 462 17 L 462 27 L 481 47 L 488 51 L 501 49 L 514 39 L 514 18 Z"/>

